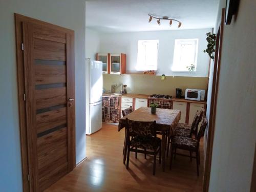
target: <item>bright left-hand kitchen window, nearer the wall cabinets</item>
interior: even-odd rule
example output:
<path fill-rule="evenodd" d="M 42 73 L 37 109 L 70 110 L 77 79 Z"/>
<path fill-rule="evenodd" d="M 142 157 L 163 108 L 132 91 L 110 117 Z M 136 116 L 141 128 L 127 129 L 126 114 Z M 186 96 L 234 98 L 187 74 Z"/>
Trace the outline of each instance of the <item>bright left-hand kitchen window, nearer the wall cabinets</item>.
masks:
<path fill-rule="evenodd" d="M 139 40 L 138 42 L 138 71 L 157 70 L 158 40 Z"/>

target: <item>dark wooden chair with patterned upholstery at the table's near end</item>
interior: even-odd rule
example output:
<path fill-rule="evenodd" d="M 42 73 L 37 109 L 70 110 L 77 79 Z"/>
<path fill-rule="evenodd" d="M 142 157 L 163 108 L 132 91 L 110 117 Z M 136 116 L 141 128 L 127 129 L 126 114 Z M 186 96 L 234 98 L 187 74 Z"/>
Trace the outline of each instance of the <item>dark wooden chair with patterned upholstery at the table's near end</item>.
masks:
<path fill-rule="evenodd" d="M 126 141 L 127 141 L 127 162 L 129 168 L 130 152 L 153 155 L 153 175 L 156 174 L 156 157 L 159 153 L 159 163 L 161 163 L 161 139 L 156 137 L 156 121 L 132 121 L 126 118 Z M 133 138 L 130 140 L 130 137 Z"/>

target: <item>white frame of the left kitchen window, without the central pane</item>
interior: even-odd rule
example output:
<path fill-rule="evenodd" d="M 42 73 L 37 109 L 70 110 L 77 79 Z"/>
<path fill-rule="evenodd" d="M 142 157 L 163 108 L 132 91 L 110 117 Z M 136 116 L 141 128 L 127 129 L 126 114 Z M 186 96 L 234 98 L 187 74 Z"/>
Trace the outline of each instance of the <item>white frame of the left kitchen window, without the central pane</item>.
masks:
<path fill-rule="evenodd" d="M 148 66 L 146 65 L 146 59 L 144 59 L 144 61 L 142 61 L 142 55 L 143 53 L 141 53 L 141 49 L 143 46 L 143 43 L 146 42 L 155 42 L 157 44 L 157 53 L 156 53 L 156 62 L 154 63 L 154 65 L 152 66 Z M 137 66 L 136 66 L 136 70 L 137 71 L 150 71 L 150 70 L 154 70 L 157 71 L 157 66 L 158 66 L 158 50 L 159 50 L 159 40 L 158 39 L 154 39 L 154 40 L 138 40 L 138 56 L 137 56 Z M 144 54 L 145 57 L 145 54 Z"/>

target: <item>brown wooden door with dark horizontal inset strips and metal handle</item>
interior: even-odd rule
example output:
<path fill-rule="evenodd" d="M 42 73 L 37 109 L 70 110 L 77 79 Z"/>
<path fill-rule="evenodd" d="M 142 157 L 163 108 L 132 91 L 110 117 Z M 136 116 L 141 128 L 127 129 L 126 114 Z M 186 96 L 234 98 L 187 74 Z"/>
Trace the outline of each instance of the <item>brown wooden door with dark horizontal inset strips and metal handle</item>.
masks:
<path fill-rule="evenodd" d="M 74 32 L 20 24 L 29 189 L 42 191 L 75 166 Z"/>

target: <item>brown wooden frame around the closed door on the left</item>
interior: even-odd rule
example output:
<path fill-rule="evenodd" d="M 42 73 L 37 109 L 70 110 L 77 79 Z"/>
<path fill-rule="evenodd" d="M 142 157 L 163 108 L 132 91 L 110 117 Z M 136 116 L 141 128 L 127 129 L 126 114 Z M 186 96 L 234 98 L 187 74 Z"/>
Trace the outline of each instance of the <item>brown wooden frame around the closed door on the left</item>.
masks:
<path fill-rule="evenodd" d="M 70 46 L 67 47 L 67 52 L 69 52 L 70 57 L 69 62 L 73 63 L 73 65 L 67 66 L 67 71 L 70 71 L 70 74 L 75 74 L 75 59 L 74 59 L 74 31 L 70 29 L 66 29 L 63 27 L 59 27 L 53 24 L 49 24 L 46 22 L 42 22 L 40 20 L 30 18 L 27 16 L 23 16 L 17 13 L 14 13 L 15 18 L 15 37 L 16 37 L 16 63 L 17 63 L 17 84 L 18 84 L 18 111 L 19 111 L 19 134 L 20 134 L 20 152 L 21 152 L 21 160 L 22 160 L 22 180 L 23 180 L 23 191 L 34 191 L 33 187 L 35 186 L 35 180 L 33 180 L 30 175 L 31 168 L 29 166 L 29 154 L 28 154 L 28 138 L 27 138 L 27 125 L 26 125 L 26 103 L 25 103 L 25 73 L 24 73 L 24 55 L 22 50 L 23 43 L 23 30 L 22 23 L 28 22 L 32 24 L 37 24 L 45 27 L 50 27 L 55 30 L 61 30 L 67 33 L 67 38 L 69 39 Z M 69 73 L 67 73 L 69 75 Z M 67 86 L 70 86 L 74 93 L 75 98 L 75 77 L 70 78 L 71 81 L 68 82 Z M 75 108 L 73 110 L 73 117 L 75 117 Z M 69 171 L 71 171 L 75 167 L 75 119 L 71 119 L 72 131 L 70 136 L 69 146 L 72 148 L 71 152 L 71 162 L 69 162 L 69 166 L 71 167 Z M 68 148 L 70 148 L 68 147 Z M 31 181 L 34 181 L 33 183 Z"/>

